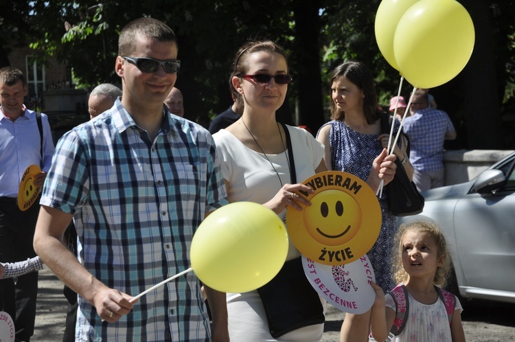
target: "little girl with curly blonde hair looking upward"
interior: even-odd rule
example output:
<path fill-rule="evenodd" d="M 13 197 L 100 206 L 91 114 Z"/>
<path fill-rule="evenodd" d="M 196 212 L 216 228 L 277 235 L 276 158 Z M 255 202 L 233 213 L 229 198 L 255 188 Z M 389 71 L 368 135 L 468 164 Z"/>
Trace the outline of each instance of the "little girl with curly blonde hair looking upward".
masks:
<path fill-rule="evenodd" d="M 403 223 L 393 244 L 393 275 L 408 301 L 406 325 L 391 341 L 464 342 L 459 299 L 439 287 L 446 284 L 450 271 L 450 254 L 438 225 L 425 221 Z M 385 341 L 398 310 L 393 293 L 385 297 L 380 286 L 372 306 L 373 341 Z M 454 297 L 452 319 L 448 318 L 446 297 Z M 442 300 L 443 299 L 443 300 Z M 390 340 L 389 340 L 390 341 Z"/>

